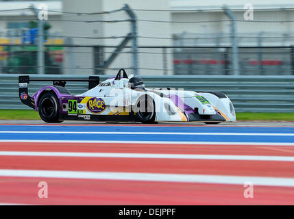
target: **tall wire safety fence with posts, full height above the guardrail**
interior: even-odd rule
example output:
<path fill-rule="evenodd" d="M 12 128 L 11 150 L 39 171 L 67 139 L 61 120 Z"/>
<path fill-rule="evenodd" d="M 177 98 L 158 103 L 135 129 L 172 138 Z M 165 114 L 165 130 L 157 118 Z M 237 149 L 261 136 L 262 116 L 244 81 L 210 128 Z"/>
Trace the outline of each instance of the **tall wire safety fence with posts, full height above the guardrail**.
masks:
<path fill-rule="evenodd" d="M 0 10 L 0 73 L 294 74 L 294 8 L 255 10 L 252 21 L 228 10 L 49 10 L 44 33 L 38 10 Z"/>

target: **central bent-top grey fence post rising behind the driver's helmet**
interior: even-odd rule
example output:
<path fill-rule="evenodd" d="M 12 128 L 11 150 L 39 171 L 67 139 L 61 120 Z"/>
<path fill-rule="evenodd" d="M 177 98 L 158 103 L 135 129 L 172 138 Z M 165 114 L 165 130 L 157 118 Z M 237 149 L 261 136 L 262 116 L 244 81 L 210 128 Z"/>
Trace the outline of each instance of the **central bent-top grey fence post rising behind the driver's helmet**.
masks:
<path fill-rule="evenodd" d="M 133 53 L 133 72 L 134 75 L 138 75 L 138 43 L 137 43 L 137 16 L 132 11 L 129 5 L 125 4 L 125 12 L 131 18 L 131 33 L 132 33 L 132 53 Z"/>

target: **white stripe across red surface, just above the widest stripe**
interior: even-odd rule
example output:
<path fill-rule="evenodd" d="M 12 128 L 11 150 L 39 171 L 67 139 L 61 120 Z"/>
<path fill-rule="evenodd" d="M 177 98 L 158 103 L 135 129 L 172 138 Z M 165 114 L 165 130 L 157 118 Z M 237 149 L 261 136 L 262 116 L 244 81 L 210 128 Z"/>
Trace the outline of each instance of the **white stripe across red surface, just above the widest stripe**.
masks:
<path fill-rule="evenodd" d="M 223 159 L 223 160 L 294 162 L 294 157 L 287 157 L 287 156 L 184 155 L 184 154 L 181 155 L 181 154 L 156 154 L 156 153 L 76 153 L 76 152 L 0 151 L 0 156 Z"/>

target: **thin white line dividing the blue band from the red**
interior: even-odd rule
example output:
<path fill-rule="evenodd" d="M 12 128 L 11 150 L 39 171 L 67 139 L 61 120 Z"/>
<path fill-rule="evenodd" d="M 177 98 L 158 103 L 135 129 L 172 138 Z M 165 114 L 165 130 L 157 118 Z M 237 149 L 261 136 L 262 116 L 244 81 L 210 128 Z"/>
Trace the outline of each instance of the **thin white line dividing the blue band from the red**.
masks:
<path fill-rule="evenodd" d="M 121 141 L 121 140 L 14 140 L 5 139 L 0 140 L 1 142 L 10 143 L 78 143 L 81 144 L 205 144 L 205 145 L 246 145 L 246 146 L 294 146 L 293 143 L 285 142 L 169 142 L 169 141 Z"/>

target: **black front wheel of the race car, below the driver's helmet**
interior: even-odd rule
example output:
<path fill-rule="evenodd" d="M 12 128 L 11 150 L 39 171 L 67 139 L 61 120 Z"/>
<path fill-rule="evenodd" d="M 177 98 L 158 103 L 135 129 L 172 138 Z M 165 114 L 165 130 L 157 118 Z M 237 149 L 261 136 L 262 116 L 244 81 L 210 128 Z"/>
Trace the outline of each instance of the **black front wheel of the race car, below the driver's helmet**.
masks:
<path fill-rule="evenodd" d="M 155 109 L 154 99 L 152 99 L 151 96 L 148 96 L 147 94 L 140 96 L 134 105 L 137 120 L 140 123 L 145 124 L 155 123 Z"/>

